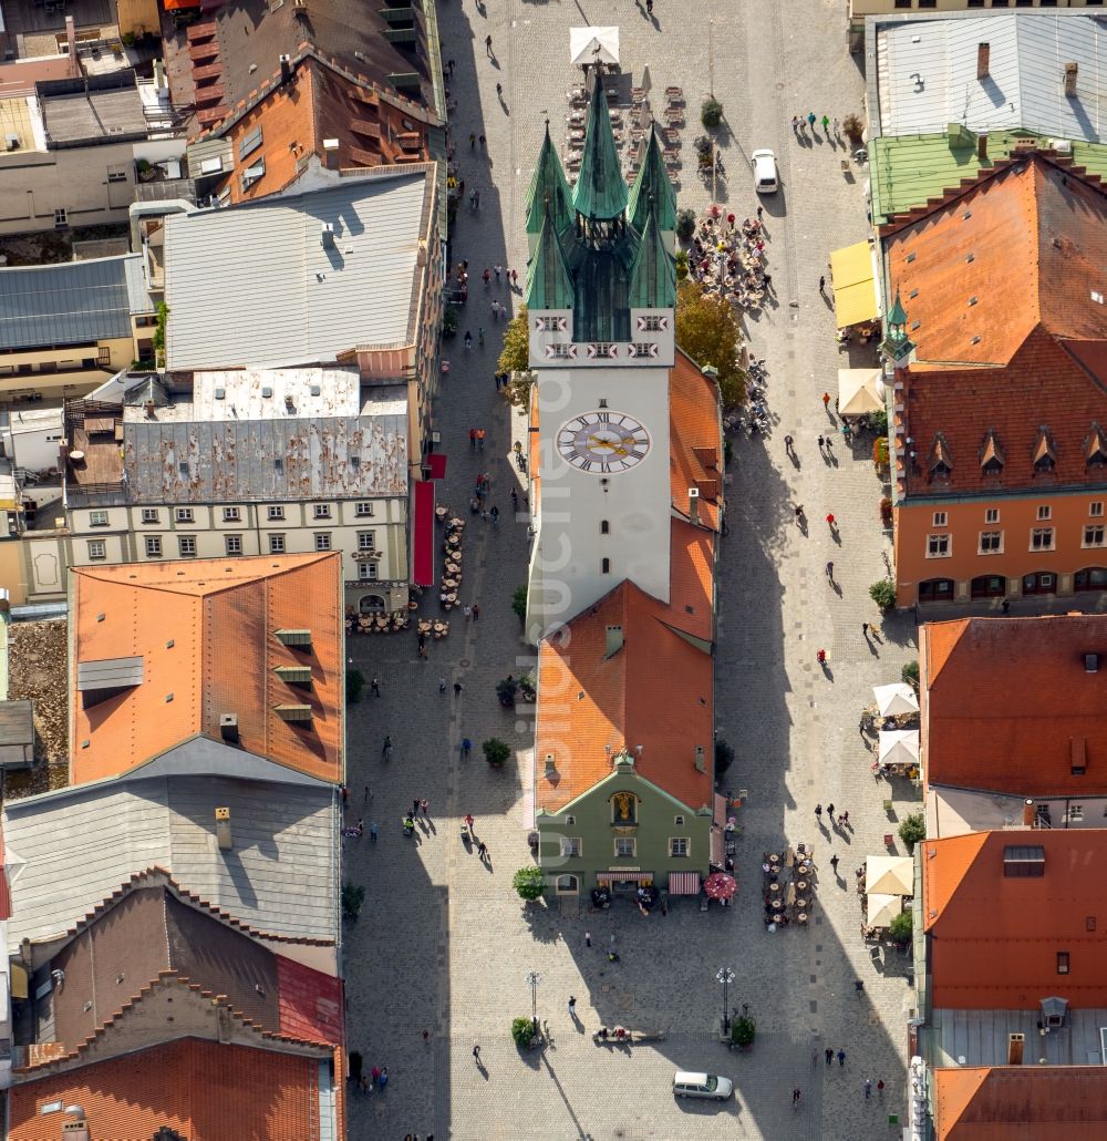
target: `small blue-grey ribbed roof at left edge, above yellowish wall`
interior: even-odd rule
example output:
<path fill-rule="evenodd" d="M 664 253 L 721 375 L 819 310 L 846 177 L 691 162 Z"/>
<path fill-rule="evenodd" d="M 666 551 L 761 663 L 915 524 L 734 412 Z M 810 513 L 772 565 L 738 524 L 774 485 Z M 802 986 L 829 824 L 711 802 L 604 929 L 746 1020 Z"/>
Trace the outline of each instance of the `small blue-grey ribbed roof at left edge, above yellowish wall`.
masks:
<path fill-rule="evenodd" d="M 152 310 L 143 256 L 0 269 L 0 347 L 88 345 L 131 335 L 131 313 Z"/>

